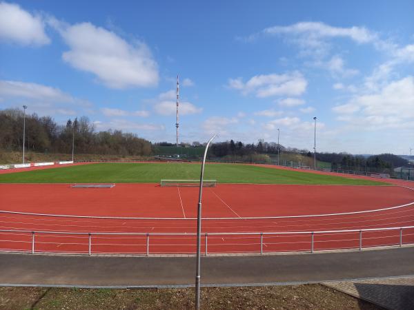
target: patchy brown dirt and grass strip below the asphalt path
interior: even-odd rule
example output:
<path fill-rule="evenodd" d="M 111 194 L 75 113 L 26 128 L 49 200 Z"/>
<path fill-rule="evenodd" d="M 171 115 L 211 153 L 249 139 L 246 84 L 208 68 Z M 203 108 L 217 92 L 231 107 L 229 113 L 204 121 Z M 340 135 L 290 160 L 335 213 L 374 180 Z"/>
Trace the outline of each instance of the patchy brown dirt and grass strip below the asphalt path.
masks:
<path fill-rule="evenodd" d="M 0 309 L 193 309 L 194 289 L 1 287 Z M 208 287 L 201 309 L 382 309 L 323 285 Z"/>

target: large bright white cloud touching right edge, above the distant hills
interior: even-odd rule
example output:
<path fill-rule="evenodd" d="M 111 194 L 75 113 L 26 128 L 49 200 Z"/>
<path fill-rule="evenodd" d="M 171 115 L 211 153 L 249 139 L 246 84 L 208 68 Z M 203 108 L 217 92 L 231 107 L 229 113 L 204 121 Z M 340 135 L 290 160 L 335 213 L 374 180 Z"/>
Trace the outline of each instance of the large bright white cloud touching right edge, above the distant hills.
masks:
<path fill-rule="evenodd" d="M 392 81 L 370 94 L 355 95 L 348 103 L 333 107 L 333 111 L 340 114 L 339 120 L 357 126 L 377 130 L 408 127 L 414 117 L 414 77 Z"/>

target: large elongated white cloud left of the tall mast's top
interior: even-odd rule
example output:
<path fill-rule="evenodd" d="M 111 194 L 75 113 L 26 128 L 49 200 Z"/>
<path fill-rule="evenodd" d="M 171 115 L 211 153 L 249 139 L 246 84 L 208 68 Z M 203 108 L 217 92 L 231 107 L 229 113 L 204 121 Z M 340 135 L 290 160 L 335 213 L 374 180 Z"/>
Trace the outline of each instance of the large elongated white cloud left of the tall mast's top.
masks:
<path fill-rule="evenodd" d="M 72 67 L 95 74 L 110 88 L 157 85 L 158 65 L 145 43 L 128 43 L 92 23 L 51 24 L 70 48 L 62 57 Z"/>

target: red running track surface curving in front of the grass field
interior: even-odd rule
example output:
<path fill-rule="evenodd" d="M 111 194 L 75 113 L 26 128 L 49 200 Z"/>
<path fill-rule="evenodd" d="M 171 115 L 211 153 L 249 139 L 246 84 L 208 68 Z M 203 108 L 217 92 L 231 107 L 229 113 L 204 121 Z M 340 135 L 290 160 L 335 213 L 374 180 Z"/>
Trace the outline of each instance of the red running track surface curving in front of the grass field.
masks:
<path fill-rule="evenodd" d="M 195 252 L 198 191 L 194 187 L 117 184 L 110 189 L 74 189 L 62 184 L 9 184 L 0 185 L 0 192 L 2 211 L 49 215 L 3 212 L 0 229 L 86 233 L 37 233 L 35 251 L 88 253 L 88 233 L 92 233 L 92 254 L 146 254 L 149 233 L 150 254 Z M 204 189 L 203 218 L 208 219 L 203 221 L 203 233 L 210 234 L 209 254 L 257 253 L 261 238 L 264 252 L 309 251 L 312 236 L 301 231 L 414 226 L 413 202 L 414 190 L 399 186 L 218 185 Z M 260 234 L 289 231 L 296 234 Z M 143 235 L 97 235 L 102 233 Z M 156 235 L 160 233 L 186 236 Z M 414 243 L 414 229 L 404 229 L 402 237 L 404 244 Z M 315 234 L 313 238 L 315 250 L 359 247 L 359 231 Z M 363 247 L 399 242 L 399 230 L 362 233 Z M 0 249 L 31 251 L 32 234 L 2 232 Z"/>

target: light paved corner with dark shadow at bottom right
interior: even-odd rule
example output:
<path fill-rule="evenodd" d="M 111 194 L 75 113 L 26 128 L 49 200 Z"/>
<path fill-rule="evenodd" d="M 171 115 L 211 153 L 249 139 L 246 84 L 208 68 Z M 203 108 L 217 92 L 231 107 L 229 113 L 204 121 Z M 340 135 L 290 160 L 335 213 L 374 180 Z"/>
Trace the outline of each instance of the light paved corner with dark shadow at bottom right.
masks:
<path fill-rule="evenodd" d="M 323 284 L 386 309 L 414 309 L 414 276 Z"/>

